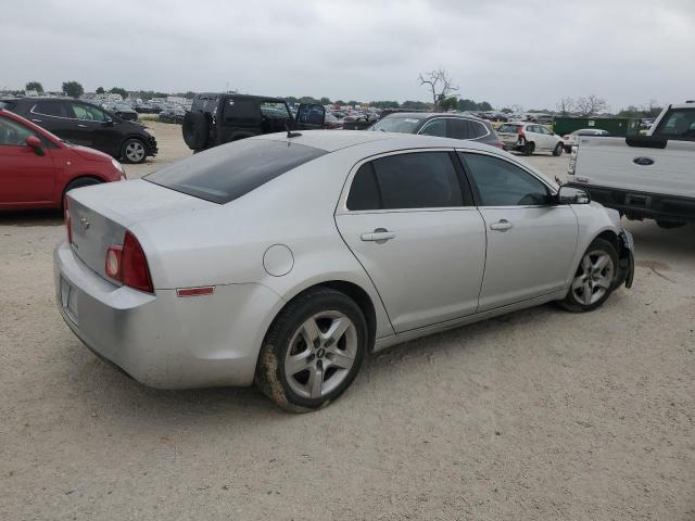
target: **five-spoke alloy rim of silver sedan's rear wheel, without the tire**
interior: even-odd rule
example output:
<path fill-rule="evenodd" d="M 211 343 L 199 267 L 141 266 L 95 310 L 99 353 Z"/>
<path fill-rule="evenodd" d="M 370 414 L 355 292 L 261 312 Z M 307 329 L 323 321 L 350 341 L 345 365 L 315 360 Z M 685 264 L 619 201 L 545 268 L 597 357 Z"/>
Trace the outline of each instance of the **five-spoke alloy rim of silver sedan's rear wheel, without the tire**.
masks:
<path fill-rule="evenodd" d="M 320 312 L 296 330 L 285 356 L 290 389 L 304 398 L 320 398 L 348 378 L 357 356 L 357 329 L 336 310 Z"/>

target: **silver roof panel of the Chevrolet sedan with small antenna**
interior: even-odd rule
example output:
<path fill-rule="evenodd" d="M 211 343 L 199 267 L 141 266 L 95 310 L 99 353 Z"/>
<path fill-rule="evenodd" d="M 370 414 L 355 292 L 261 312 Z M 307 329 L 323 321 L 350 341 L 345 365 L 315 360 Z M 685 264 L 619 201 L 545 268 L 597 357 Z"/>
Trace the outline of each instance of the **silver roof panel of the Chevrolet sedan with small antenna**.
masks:
<path fill-rule="evenodd" d="M 456 148 L 476 149 L 483 151 L 496 151 L 498 149 L 488 144 L 470 140 L 439 138 L 435 136 L 420 136 L 401 132 L 380 132 L 374 130 L 300 130 L 300 136 L 288 138 L 287 132 L 266 134 L 249 139 L 266 139 L 274 141 L 285 141 L 299 143 L 315 149 L 334 152 L 349 147 L 377 143 L 382 150 L 380 152 L 396 151 L 403 149 L 427 149 L 427 148 Z"/>

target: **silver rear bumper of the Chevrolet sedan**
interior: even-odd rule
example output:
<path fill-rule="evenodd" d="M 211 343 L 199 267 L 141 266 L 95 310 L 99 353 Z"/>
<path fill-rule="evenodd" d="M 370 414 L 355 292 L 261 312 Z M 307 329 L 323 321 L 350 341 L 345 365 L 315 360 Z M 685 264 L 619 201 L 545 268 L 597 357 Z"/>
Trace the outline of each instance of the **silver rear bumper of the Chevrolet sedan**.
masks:
<path fill-rule="evenodd" d="M 202 297 L 118 288 L 68 244 L 54 252 L 58 308 L 87 347 L 159 389 L 250 385 L 280 297 L 262 284 L 219 285 Z M 270 317 L 269 319 L 267 317 Z"/>

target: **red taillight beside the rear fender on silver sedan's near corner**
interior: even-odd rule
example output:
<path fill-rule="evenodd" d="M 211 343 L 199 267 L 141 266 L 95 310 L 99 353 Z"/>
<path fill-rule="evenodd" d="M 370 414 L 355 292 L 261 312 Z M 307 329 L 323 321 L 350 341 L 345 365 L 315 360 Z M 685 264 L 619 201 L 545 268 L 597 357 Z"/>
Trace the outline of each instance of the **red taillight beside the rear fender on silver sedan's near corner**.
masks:
<path fill-rule="evenodd" d="M 132 233 L 126 231 L 123 245 L 113 244 L 106 251 L 106 276 L 124 285 L 153 293 L 152 277 L 142 246 Z"/>

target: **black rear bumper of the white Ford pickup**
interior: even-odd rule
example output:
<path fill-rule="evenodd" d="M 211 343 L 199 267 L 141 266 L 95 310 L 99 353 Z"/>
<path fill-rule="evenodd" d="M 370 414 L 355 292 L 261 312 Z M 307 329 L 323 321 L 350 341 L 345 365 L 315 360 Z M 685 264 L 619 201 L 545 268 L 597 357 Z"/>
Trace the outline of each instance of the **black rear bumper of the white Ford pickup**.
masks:
<path fill-rule="evenodd" d="M 673 223 L 695 223 L 695 199 L 693 198 L 639 192 L 572 181 L 568 185 L 586 190 L 593 201 L 615 208 L 630 219 L 647 218 Z"/>

